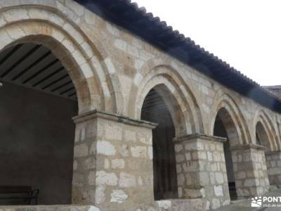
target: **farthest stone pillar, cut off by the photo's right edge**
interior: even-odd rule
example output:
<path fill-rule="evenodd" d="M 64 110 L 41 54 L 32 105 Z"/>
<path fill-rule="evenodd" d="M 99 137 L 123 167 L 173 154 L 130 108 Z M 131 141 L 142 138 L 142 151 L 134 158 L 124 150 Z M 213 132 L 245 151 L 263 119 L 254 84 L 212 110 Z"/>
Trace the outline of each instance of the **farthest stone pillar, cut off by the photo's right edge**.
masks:
<path fill-rule="evenodd" d="M 266 152 L 266 167 L 270 186 L 281 186 L 281 151 Z"/>

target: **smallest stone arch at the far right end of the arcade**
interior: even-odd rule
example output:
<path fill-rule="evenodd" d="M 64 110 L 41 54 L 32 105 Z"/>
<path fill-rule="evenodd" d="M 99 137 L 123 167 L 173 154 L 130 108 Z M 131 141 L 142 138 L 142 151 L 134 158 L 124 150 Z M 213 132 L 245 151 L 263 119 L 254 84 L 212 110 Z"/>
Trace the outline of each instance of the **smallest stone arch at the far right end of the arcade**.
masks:
<path fill-rule="evenodd" d="M 259 129 L 257 126 L 259 126 Z M 256 134 L 258 134 L 260 138 L 265 139 L 262 143 L 268 147 L 268 150 L 277 151 L 280 149 L 280 142 L 277 139 L 277 133 L 273 122 L 263 109 L 258 110 L 254 117 L 254 132 L 255 140 L 257 138 Z"/>

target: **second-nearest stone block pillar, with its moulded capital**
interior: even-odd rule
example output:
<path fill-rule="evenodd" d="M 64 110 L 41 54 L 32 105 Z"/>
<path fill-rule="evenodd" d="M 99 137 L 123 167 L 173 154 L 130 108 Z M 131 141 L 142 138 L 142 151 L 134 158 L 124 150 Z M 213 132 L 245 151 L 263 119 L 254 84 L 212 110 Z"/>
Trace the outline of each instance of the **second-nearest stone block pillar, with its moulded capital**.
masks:
<path fill-rule="evenodd" d="M 224 138 L 191 134 L 175 138 L 179 198 L 203 198 L 206 210 L 230 203 Z"/>

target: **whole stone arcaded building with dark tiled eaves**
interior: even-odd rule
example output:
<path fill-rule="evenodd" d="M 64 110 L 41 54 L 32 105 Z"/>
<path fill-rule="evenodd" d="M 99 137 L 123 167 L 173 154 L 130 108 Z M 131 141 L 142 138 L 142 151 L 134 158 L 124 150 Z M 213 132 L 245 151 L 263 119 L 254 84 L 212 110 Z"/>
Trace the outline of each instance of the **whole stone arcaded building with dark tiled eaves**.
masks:
<path fill-rule="evenodd" d="M 152 211 L 280 184 L 280 98 L 131 1 L 1 0 L 0 38 L 0 186 Z"/>

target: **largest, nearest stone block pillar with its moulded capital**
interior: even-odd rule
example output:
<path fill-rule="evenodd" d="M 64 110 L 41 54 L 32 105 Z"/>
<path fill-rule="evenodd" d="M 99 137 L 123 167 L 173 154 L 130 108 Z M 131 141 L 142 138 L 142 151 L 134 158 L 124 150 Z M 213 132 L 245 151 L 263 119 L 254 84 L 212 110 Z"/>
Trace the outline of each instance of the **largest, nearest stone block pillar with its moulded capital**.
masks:
<path fill-rule="evenodd" d="M 152 203 L 156 124 L 93 110 L 74 117 L 72 203 L 133 210 Z"/>

